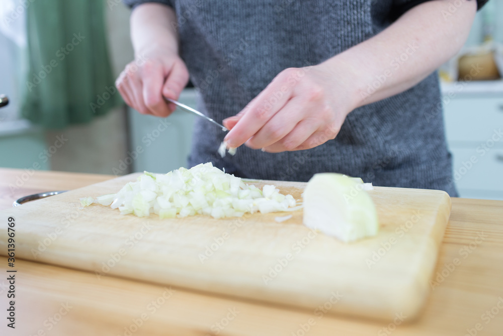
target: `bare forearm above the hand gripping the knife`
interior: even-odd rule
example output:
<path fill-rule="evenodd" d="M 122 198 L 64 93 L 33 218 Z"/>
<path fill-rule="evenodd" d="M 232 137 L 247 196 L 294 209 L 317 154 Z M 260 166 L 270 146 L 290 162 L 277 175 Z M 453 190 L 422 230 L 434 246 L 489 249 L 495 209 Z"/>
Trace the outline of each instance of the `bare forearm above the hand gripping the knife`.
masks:
<path fill-rule="evenodd" d="M 159 46 L 178 53 L 177 18 L 171 7 L 143 4 L 134 9 L 130 20 L 135 56 Z"/>

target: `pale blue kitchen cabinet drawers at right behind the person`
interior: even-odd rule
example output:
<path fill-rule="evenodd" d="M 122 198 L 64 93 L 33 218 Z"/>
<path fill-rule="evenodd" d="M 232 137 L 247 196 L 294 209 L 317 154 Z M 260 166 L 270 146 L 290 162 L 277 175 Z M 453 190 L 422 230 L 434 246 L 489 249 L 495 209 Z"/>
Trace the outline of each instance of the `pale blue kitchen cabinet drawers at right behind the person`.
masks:
<path fill-rule="evenodd" d="M 447 143 L 461 197 L 503 199 L 503 85 L 442 85 Z"/>

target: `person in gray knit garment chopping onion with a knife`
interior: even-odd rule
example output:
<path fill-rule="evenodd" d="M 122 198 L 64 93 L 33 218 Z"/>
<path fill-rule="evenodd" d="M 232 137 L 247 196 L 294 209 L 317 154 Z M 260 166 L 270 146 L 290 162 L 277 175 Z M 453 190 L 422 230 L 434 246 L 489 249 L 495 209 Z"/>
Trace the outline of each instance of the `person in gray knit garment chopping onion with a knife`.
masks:
<path fill-rule="evenodd" d="M 176 106 L 163 97 L 178 99 L 190 74 L 198 109 L 230 131 L 197 118 L 189 166 L 292 181 L 339 172 L 456 196 L 435 70 L 486 1 L 124 0 L 146 61 L 116 85 L 166 117 Z M 217 154 L 224 140 L 236 155 Z"/>

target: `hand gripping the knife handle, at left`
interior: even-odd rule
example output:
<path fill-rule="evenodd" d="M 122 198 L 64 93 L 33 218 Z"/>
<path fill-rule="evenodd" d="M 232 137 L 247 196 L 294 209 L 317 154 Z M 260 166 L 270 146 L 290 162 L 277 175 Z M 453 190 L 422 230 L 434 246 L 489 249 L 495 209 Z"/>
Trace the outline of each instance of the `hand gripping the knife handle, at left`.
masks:
<path fill-rule="evenodd" d="M 189 71 L 180 56 L 156 50 L 126 65 L 115 85 L 126 104 L 140 113 L 167 117 L 176 105 L 163 97 L 178 100 L 188 81 Z"/>

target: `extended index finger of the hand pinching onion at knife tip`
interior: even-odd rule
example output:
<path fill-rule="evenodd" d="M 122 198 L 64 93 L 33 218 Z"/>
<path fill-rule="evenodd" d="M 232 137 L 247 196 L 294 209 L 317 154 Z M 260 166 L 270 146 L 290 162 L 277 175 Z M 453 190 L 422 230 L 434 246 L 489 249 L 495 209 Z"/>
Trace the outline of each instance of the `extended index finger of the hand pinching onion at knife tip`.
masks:
<path fill-rule="evenodd" d="M 227 133 L 225 141 L 229 147 L 239 147 L 254 136 L 291 97 L 286 77 L 275 79 L 264 89 L 257 99 L 249 104 L 246 112 Z"/>

